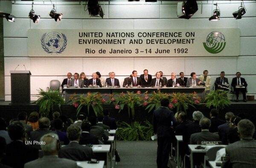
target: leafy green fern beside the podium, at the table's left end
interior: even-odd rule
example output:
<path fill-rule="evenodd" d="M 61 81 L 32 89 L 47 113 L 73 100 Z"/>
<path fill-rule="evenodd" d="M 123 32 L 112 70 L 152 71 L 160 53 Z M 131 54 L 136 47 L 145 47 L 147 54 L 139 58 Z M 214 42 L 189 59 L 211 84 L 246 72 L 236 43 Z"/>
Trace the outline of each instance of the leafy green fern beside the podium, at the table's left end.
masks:
<path fill-rule="evenodd" d="M 40 89 L 39 98 L 36 104 L 39 106 L 39 114 L 44 117 L 49 116 L 49 112 L 53 111 L 53 106 L 58 105 L 61 110 L 61 104 L 65 104 L 64 98 L 59 95 L 59 91 L 49 90 L 48 92 Z"/>

